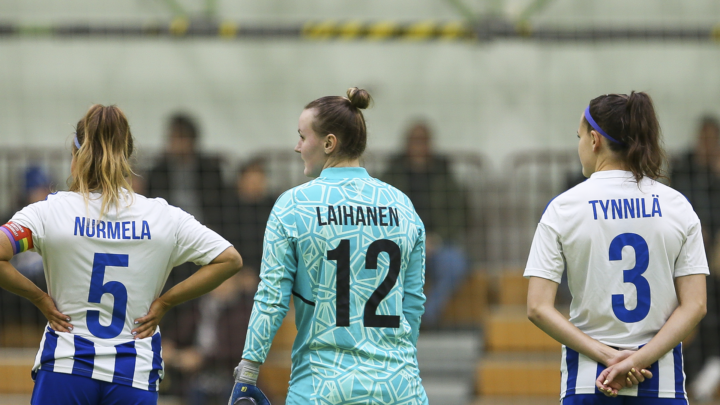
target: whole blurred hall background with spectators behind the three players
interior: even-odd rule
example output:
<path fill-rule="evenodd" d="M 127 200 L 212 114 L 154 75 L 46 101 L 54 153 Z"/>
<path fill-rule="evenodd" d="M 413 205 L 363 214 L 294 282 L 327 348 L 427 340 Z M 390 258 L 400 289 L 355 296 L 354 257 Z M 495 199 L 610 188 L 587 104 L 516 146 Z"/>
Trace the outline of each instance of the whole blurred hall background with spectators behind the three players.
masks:
<path fill-rule="evenodd" d="M 302 4 L 300 4 L 302 3 Z M 275 199 L 307 181 L 302 107 L 369 90 L 370 175 L 405 192 L 428 232 L 418 343 L 430 403 L 556 404 L 560 345 L 526 317 L 522 270 L 547 202 L 583 181 L 590 99 L 647 91 L 671 156 L 661 181 L 699 215 L 708 314 L 684 342 L 688 388 L 720 382 L 720 2 L 147 0 L 0 2 L 0 218 L 67 188 L 76 120 L 117 104 L 137 140 L 135 191 L 235 245 L 243 270 L 162 325 L 167 405 L 224 404 Z M 45 288 L 42 259 L 13 259 Z M 196 270 L 173 270 L 166 288 Z M 564 284 L 557 305 L 567 313 Z M 259 385 L 281 404 L 292 311 Z M 0 291 L 0 404 L 32 389 L 42 315 Z M 6 402 L 3 402 L 6 401 Z"/>

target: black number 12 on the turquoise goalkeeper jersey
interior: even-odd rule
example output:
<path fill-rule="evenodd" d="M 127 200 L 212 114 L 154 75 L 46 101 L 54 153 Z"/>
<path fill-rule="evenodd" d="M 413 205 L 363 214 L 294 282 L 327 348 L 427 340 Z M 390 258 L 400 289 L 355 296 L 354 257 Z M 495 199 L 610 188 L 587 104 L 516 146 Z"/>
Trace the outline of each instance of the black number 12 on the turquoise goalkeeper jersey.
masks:
<path fill-rule="evenodd" d="M 399 328 L 400 317 L 398 315 L 378 315 L 377 307 L 397 282 L 400 274 L 400 247 L 389 239 L 376 240 L 368 247 L 365 255 L 365 268 L 377 270 L 377 259 L 382 252 L 390 256 L 390 268 L 385 279 L 365 303 L 363 325 L 366 328 Z M 337 248 L 328 250 L 327 258 L 337 261 L 335 325 L 350 326 L 350 240 L 343 239 Z"/>

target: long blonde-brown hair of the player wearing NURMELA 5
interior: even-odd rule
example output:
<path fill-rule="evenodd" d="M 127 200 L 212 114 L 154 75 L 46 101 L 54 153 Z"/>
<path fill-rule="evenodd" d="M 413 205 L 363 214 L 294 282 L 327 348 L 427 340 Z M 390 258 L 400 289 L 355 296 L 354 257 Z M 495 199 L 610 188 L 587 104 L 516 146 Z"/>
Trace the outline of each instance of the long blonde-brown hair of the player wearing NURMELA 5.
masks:
<path fill-rule="evenodd" d="M 95 104 L 78 121 L 75 136 L 80 148 L 72 147 L 75 171 L 70 191 L 82 194 L 85 204 L 90 192 L 99 192 L 101 218 L 110 207 L 119 208 L 121 198 L 126 198 L 121 189 L 129 191 L 131 199 L 127 202 L 131 203 L 133 189 L 128 176 L 132 174 L 130 157 L 135 149 L 125 114 L 117 106 Z"/>

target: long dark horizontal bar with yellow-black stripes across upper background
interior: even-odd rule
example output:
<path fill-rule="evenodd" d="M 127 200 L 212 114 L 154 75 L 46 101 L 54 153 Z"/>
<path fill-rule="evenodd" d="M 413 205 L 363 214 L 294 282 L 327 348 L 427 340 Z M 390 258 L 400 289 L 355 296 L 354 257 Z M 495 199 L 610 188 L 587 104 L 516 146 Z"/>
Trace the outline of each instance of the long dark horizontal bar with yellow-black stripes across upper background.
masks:
<path fill-rule="evenodd" d="M 251 40 L 308 41 L 471 41 L 487 42 L 515 39 L 536 42 L 612 42 L 612 41 L 712 41 L 720 43 L 720 24 L 704 27 L 547 27 L 528 21 L 422 20 L 358 21 L 325 20 L 305 24 L 251 24 L 233 21 L 192 20 L 185 17 L 170 22 L 139 24 L 32 25 L 0 21 L 0 38 L 87 37 L 87 38 L 222 38 Z"/>

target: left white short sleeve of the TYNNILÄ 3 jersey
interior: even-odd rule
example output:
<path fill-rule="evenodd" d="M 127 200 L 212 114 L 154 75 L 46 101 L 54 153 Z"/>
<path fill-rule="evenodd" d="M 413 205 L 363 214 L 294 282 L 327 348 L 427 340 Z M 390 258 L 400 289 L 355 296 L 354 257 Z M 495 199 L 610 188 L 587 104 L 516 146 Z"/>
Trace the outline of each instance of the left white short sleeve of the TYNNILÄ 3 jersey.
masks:
<path fill-rule="evenodd" d="M 565 257 L 560 235 L 541 222 L 535 230 L 524 276 L 540 277 L 560 283 L 563 271 L 565 271 Z"/>

